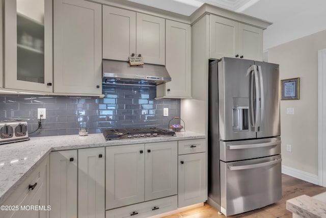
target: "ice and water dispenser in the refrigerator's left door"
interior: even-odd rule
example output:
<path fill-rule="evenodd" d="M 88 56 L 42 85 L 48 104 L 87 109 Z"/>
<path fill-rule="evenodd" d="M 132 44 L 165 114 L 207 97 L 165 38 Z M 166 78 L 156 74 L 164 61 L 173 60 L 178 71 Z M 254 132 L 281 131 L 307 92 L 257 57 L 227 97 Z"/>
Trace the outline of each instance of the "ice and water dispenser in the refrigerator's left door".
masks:
<path fill-rule="evenodd" d="M 249 99 L 233 98 L 233 131 L 249 130 Z"/>

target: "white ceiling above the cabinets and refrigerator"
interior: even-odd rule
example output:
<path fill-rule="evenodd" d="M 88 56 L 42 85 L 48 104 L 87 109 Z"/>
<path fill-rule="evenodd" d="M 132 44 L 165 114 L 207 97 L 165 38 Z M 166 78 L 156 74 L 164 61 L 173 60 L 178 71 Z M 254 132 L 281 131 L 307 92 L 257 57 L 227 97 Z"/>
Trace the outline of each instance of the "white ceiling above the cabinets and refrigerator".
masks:
<path fill-rule="evenodd" d="M 202 4 L 226 8 L 273 22 L 264 31 L 263 49 L 326 30 L 325 0 L 128 0 L 191 15 Z"/>

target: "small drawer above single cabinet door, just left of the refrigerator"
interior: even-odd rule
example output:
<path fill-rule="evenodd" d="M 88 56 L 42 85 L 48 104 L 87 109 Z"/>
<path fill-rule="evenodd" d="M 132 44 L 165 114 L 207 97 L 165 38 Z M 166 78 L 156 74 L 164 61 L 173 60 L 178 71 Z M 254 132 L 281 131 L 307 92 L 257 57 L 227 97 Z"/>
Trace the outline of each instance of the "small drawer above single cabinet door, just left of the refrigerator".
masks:
<path fill-rule="evenodd" d="M 178 154 L 206 152 L 206 139 L 178 141 Z"/>

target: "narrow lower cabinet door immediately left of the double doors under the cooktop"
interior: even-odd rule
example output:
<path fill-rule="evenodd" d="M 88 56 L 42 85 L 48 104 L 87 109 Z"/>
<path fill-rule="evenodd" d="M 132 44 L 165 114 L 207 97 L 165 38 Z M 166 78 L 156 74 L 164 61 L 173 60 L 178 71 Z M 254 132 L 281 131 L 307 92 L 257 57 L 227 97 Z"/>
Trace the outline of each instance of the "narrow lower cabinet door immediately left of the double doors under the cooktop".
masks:
<path fill-rule="evenodd" d="M 78 150 L 78 218 L 105 217 L 105 150 Z"/>

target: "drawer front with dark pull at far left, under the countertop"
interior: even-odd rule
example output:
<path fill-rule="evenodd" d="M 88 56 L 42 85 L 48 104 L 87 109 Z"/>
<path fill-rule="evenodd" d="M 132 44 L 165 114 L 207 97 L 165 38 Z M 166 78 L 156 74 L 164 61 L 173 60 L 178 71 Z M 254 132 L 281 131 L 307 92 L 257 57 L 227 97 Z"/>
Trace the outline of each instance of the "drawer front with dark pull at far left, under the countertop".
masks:
<path fill-rule="evenodd" d="M 33 170 L 33 172 L 16 188 L 16 190 L 8 197 L 3 205 L 32 205 L 32 201 L 35 198 L 36 193 L 39 192 L 38 190 L 40 188 L 40 191 L 44 190 L 42 187 L 44 187 L 46 184 L 48 161 L 48 157 L 43 160 L 43 162 L 40 163 Z M 30 185 L 35 185 L 33 190 Z M 0 217 L 11 217 L 14 212 L 15 211 L 0 211 Z"/>

